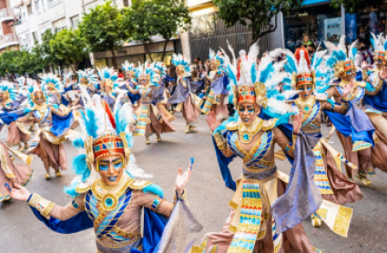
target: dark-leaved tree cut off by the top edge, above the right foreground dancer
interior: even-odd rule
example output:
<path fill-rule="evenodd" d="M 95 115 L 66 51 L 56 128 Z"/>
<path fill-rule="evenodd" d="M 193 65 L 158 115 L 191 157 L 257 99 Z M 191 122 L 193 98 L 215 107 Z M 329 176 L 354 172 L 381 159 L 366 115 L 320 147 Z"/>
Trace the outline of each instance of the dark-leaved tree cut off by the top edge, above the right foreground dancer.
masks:
<path fill-rule="evenodd" d="M 248 25 L 252 32 L 251 44 L 260 37 L 277 29 L 278 14 L 289 14 L 290 10 L 300 7 L 303 0 L 212 0 L 219 8 L 219 18 L 227 27 L 240 22 Z M 274 24 L 271 19 L 274 17 Z"/>

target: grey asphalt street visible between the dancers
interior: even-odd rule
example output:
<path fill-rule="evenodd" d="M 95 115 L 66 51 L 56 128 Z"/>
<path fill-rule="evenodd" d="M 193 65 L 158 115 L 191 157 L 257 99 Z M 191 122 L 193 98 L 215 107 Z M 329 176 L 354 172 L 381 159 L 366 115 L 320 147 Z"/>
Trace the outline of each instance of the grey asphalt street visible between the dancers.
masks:
<path fill-rule="evenodd" d="M 178 119 L 173 122 L 177 131 L 162 135 L 163 142 L 157 143 L 153 136 L 150 137 L 151 144 L 147 146 L 144 137 L 135 137 L 133 154 L 136 156 L 137 166 L 153 176 L 148 180 L 162 187 L 169 201 L 172 200 L 178 167 L 188 167 L 189 157 L 195 157 L 187 193 L 189 206 L 204 227 L 199 235 L 201 238 L 210 231 L 220 231 L 229 215 L 228 204 L 233 192 L 225 187 L 220 176 L 205 117 L 200 117 L 199 126 L 194 133 L 185 134 L 184 118 L 180 114 L 177 116 Z M 325 137 L 328 132 L 329 128 L 323 124 Z M 4 141 L 5 138 L 6 131 L 3 131 L 0 133 L 0 140 Z M 330 143 L 338 151 L 342 151 L 335 135 L 331 137 Z M 27 187 L 32 193 L 38 193 L 62 206 L 71 201 L 63 188 L 75 177 L 71 171 L 71 160 L 78 152 L 68 141 L 65 147 L 69 168 L 63 172 L 63 176 L 55 177 L 52 172 L 52 179 L 46 180 L 42 162 L 34 157 L 32 167 L 35 168 L 35 177 Z M 277 165 L 281 171 L 289 173 L 288 161 L 278 161 Z M 232 162 L 231 170 L 234 178 L 240 176 L 240 159 Z M 371 180 L 371 186 L 361 186 L 364 195 L 362 201 L 347 205 L 354 209 L 348 238 L 334 234 L 324 224 L 321 228 L 312 228 L 309 219 L 303 222 L 314 247 L 320 248 L 324 253 L 387 251 L 387 175 L 376 169 L 376 176 Z M 0 203 L 0 252 L 95 253 L 96 247 L 92 229 L 71 235 L 56 234 L 35 218 L 25 202 L 13 200 Z"/>

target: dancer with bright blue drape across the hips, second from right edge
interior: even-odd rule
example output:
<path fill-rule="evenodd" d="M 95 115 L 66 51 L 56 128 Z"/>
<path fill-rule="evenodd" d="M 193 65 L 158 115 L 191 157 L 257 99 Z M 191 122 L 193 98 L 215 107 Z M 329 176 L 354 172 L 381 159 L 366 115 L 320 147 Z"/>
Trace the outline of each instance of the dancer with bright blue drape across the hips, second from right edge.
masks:
<path fill-rule="evenodd" d="M 327 97 L 333 97 L 334 101 L 329 99 L 331 108 L 324 111 L 336 128 L 345 157 L 356 167 L 345 164 L 347 177 L 353 181 L 356 176 L 363 185 L 369 186 L 371 181 L 367 178 L 367 171 L 373 171 L 371 147 L 374 146 L 375 129 L 369 117 L 358 107 L 366 84 L 355 81 L 353 54 L 350 50 L 350 57 L 347 57 L 345 36 L 341 36 L 339 46 L 330 42 L 325 44 L 331 52 L 331 56 L 326 60 L 328 69 L 324 77 L 328 78 L 331 84 L 325 86 L 325 93 Z M 339 78 L 339 83 L 333 83 L 335 77 Z"/>

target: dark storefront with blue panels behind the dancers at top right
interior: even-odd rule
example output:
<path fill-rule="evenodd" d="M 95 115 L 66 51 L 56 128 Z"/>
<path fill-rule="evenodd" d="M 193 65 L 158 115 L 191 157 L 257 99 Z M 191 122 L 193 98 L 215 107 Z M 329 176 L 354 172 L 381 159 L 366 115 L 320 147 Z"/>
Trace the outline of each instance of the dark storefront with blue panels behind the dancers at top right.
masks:
<path fill-rule="evenodd" d="M 311 43 L 318 46 L 323 40 L 337 44 L 343 34 L 347 45 L 361 38 L 369 43 L 370 32 L 379 35 L 387 31 L 387 4 L 360 7 L 350 15 L 344 9 L 333 8 L 331 1 L 306 0 L 301 8 L 282 16 L 283 46 L 291 51 Z"/>

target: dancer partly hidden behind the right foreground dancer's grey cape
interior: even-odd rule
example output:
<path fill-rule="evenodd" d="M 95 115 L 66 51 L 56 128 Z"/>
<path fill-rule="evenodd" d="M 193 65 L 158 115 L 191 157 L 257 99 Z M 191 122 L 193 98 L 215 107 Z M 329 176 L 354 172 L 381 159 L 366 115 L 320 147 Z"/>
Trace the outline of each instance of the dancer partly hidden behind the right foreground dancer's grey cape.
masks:
<path fill-rule="evenodd" d="M 314 86 L 320 88 L 327 85 L 324 84 L 324 81 L 327 79 L 321 79 L 326 73 L 319 70 L 320 67 L 323 67 L 322 62 L 326 51 L 315 53 L 312 71 L 308 66 L 304 52 L 300 52 L 299 62 L 297 62 L 295 56 L 289 50 L 281 52 L 288 56 L 284 69 L 289 71 L 292 76 L 292 87 L 284 84 L 281 89 L 290 90 L 290 88 L 293 88 L 300 92 L 298 98 L 292 104 L 297 115 L 300 115 L 302 119 L 300 130 L 304 135 L 321 137 L 321 110 L 331 109 L 331 104 L 326 101 L 326 96 L 314 95 Z M 270 87 L 270 90 L 274 90 L 274 88 Z M 291 126 L 288 126 L 288 128 L 290 130 L 285 128 L 284 131 L 288 130 L 291 134 Z M 340 205 L 361 200 L 362 192 L 356 183 L 348 180 L 341 173 L 341 170 L 336 167 L 331 152 L 339 154 L 337 151 L 325 141 L 318 142 L 315 147 L 311 148 L 316 160 L 313 177 L 314 183 L 319 187 L 321 197 L 327 200 L 323 201 L 319 210 L 311 216 L 311 224 L 315 228 L 321 227 L 322 219 L 335 233 L 342 237 L 347 237 L 352 209 Z M 340 159 L 339 163 L 341 163 Z"/>

